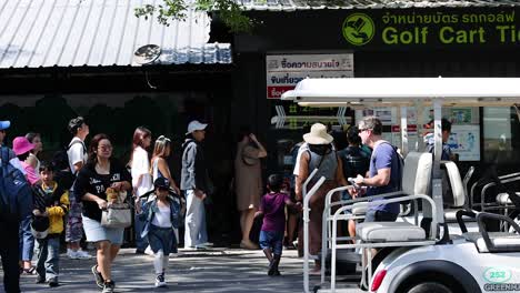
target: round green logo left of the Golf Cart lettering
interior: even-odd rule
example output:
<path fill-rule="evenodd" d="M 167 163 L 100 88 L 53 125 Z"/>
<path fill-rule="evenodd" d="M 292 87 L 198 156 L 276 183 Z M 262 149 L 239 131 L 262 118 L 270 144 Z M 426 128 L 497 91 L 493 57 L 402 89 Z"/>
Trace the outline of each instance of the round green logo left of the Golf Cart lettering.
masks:
<path fill-rule="evenodd" d="M 364 13 L 350 14 L 343 22 L 343 38 L 354 46 L 363 46 L 372 40 L 376 26 Z"/>

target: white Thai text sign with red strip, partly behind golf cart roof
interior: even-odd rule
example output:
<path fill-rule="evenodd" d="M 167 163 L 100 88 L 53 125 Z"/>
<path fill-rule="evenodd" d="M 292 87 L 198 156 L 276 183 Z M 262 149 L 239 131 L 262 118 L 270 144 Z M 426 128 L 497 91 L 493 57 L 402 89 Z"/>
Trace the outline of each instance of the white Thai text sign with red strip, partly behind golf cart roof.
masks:
<path fill-rule="evenodd" d="M 352 78 L 353 55 L 282 54 L 267 55 L 267 98 L 280 99 L 304 78 Z"/>

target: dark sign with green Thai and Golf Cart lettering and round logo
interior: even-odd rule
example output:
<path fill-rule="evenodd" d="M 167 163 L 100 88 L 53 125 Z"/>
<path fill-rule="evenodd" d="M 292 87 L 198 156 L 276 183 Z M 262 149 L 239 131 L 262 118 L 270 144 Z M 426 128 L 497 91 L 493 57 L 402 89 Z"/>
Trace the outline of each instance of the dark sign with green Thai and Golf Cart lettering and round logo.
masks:
<path fill-rule="evenodd" d="M 402 9 L 347 13 L 342 36 L 363 46 L 511 46 L 520 44 L 519 11 L 511 8 Z"/>

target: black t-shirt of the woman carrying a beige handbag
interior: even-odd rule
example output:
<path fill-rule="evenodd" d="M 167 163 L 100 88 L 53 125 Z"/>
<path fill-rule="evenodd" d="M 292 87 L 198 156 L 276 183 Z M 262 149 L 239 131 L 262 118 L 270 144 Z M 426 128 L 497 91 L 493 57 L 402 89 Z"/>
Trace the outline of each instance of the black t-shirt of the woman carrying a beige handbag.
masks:
<path fill-rule="evenodd" d="M 96 164 L 87 163 L 78 174 L 74 184 L 74 196 L 83 203 L 83 215 L 92 220 L 101 221 L 101 210 L 92 201 L 83 201 L 81 198 L 88 192 L 100 199 L 107 200 L 104 191 L 116 182 L 127 181 L 131 184 L 132 176 L 123 164 L 110 159 L 110 174 L 98 174 Z"/>

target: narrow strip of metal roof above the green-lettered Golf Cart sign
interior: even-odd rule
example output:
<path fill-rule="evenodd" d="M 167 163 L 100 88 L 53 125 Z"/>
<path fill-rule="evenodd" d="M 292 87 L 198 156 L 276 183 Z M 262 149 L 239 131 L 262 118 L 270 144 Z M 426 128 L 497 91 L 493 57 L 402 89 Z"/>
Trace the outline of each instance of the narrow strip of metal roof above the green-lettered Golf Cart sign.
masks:
<path fill-rule="evenodd" d="M 440 7 L 519 7 L 518 0 L 236 0 L 246 10 L 404 9 Z"/>

